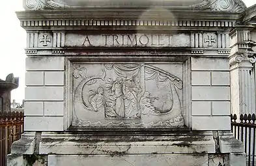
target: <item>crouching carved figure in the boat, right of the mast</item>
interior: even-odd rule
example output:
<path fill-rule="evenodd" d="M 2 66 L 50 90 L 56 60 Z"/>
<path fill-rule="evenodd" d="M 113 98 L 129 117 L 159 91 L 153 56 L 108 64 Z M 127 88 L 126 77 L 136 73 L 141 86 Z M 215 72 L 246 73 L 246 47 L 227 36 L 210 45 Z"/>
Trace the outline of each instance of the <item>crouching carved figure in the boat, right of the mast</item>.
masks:
<path fill-rule="evenodd" d="M 141 109 L 141 114 L 142 115 L 149 115 L 151 112 L 155 112 L 154 107 L 151 104 L 151 100 L 149 98 L 150 93 L 149 92 L 144 92 L 143 96 L 141 97 L 141 100 L 139 100 L 139 107 Z M 156 99 L 156 98 L 154 98 Z"/>

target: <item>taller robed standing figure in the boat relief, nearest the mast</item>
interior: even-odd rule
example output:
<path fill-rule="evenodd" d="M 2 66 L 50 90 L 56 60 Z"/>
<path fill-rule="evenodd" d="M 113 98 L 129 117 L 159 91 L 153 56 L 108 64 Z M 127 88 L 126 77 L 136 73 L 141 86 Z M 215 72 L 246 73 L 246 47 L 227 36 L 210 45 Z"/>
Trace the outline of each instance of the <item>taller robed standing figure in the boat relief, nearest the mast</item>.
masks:
<path fill-rule="evenodd" d="M 128 75 L 126 81 L 122 86 L 122 92 L 124 93 L 124 106 L 126 118 L 139 118 L 140 113 L 137 104 L 137 94 L 139 89 L 137 88 L 132 76 Z"/>

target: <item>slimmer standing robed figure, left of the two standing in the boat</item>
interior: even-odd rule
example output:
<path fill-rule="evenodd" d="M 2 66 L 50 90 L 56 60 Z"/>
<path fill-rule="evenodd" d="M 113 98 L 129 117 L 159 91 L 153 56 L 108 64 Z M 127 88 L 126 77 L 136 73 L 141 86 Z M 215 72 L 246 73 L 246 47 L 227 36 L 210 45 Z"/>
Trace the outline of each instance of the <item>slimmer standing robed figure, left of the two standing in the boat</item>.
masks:
<path fill-rule="evenodd" d="M 124 99 L 123 99 L 123 93 L 122 93 L 122 83 L 123 83 L 122 77 L 117 77 L 117 79 L 115 79 L 115 82 L 113 83 L 111 90 L 113 91 L 113 98 L 115 100 L 115 105 L 113 109 L 115 110 L 115 113 L 117 113 L 119 117 L 124 118 L 125 112 L 124 112 Z"/>

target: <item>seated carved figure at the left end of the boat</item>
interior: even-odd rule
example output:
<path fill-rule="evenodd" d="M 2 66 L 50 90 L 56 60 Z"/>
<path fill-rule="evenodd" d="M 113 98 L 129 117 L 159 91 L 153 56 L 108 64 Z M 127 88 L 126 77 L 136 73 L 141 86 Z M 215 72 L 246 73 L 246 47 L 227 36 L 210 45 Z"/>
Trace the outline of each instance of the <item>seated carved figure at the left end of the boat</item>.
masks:
<path fill-rule="evenodd" d="M 90 97 L 91 105 L 94 111 L 102 111 L 104 110 L 104 89 L 102 87 L 98 87 L 96 94 L 92 94 Z"/>

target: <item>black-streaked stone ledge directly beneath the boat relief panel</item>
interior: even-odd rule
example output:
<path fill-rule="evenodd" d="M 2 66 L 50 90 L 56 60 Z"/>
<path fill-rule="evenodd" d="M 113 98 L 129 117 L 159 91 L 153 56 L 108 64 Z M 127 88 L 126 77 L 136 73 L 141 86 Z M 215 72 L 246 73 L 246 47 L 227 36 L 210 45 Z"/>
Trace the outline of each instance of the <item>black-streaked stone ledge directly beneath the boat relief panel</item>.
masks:
<path fill-rule="evenodd" d="M 60 135 L 42 134 L 39 154 L 207 154 L 212 135 Z"/>

